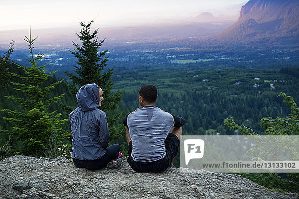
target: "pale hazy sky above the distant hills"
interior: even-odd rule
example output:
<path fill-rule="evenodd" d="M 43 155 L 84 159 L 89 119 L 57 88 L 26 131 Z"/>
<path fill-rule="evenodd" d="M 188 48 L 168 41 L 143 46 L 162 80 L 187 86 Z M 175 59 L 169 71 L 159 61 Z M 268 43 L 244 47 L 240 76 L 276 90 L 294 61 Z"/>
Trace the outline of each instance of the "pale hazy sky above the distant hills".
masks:
<path fill-rule="evenodd" d="M 0 0 L 0 30 L 75 26 L 95 19 L 103 27 L 236 15 L 244 0 Z"/>

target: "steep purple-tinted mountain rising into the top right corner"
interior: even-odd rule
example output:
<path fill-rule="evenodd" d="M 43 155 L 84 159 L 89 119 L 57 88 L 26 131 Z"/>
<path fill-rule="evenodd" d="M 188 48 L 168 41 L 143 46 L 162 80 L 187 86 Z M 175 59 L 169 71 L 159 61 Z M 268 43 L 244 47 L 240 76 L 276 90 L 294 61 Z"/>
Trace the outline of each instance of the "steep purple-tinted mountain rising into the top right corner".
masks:
<path fill-rule="evenodd" d="M 299 45 L 298 0 L 250 0 L 239 19 L 215 36 L 226 42 Z"/>

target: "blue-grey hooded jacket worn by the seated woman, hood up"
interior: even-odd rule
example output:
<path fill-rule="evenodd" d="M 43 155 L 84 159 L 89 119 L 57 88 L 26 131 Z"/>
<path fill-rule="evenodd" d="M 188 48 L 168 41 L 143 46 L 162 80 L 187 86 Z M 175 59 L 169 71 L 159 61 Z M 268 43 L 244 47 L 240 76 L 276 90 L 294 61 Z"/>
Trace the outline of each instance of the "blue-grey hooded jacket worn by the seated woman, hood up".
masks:
<path fill-rule="evenodd" d="M 101 158 L 110 139 L 106 113 L 99 109 L 100 94 L 96 84 L 88 84 L 77 92 L 79 107 L 70 113 L 72 157 L 79 160 Z"/>

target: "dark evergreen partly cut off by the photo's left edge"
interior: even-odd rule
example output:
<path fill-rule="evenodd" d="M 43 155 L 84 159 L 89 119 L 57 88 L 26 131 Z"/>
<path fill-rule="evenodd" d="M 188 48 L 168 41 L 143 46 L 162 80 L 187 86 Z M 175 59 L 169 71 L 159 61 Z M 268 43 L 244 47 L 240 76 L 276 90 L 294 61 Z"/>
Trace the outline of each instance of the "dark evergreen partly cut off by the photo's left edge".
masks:
<path fill-rule="evenodd" d="M 3 56 L 0 57 L 0 92 L 2 92 L 8 85 L 10 75 L 8 67 L 10 65 L 10 55 L 13 51 L 13 41 L 10 43 L 9 49 Z"/>

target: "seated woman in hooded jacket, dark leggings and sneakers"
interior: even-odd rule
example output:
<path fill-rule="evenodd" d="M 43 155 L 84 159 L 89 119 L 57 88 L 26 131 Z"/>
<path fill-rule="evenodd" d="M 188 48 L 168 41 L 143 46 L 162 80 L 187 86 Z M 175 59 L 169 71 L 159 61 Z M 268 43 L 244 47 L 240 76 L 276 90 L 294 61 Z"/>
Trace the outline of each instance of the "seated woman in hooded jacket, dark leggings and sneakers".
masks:
<path fill-rule="evenodd" d="M 88 170 L 120 167 L 120 145 L 108 147 L 110 134 L 107 117 L 99 108 L 104 100 L 102 89 L 96 84 L 84 85 L 76 97 L 79 107 L 69 115 L 74 165 Z"/>

